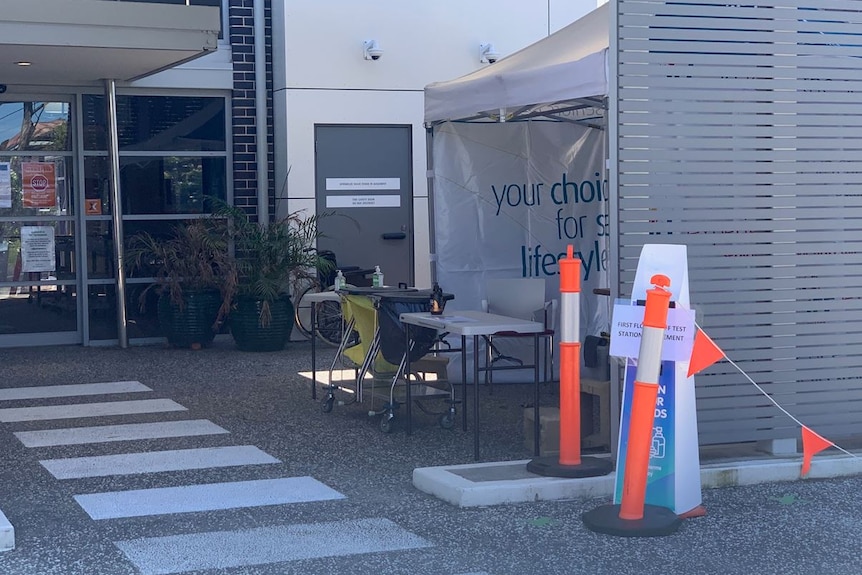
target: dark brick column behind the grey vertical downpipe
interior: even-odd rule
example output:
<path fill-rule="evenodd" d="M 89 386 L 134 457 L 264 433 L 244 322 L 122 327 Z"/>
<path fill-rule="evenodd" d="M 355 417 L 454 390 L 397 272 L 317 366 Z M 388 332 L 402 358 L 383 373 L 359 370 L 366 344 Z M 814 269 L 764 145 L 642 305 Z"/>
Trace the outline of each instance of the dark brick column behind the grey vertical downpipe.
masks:
<path fill-rule="evenodd" d="M 264 2 L 266 39 L 266 109 L 268 149 L 261 157 L 267 162 L 267 197 L 274 214 L 272 151 L 272 12 L 270 0 Z M 254 2 L 229 0 L 229 39 L 233 54 L 233 95 L 231 131 L 233 134 L 234 205 L 257 219 L 257 125 L 255 112 Z"/>

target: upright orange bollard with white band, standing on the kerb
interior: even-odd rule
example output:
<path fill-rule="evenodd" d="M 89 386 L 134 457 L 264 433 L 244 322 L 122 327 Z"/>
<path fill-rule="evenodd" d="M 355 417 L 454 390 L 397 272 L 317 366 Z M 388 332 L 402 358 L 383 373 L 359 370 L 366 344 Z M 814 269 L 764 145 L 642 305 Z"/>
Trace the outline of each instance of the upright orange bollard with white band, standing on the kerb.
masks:
<path fill-rule="evenodd" d="M 581 457 L 581 260 L 569 245 L 560 265 L 560 455 L 538 457 L 527 471 L 551 477 L 594 477 L 613 469 L 609 459 Z"/>

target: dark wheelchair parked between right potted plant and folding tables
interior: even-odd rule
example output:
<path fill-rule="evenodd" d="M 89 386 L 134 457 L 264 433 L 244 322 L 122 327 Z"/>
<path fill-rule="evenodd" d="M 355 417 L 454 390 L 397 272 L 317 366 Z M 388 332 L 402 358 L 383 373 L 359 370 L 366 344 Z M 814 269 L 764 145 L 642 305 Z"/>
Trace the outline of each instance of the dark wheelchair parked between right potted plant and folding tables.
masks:
<path fill-rule="evenodd" d="M 344 336 L 344 325 L 341 317 L 341 302 L 337 299 L 318 302 L 315 307 L 315 321 L 312 322 L 311 302 L 305 296 L 310 293 L 332 291 L 335 281 L 336 269 L 340 269 L 347 278 L 348 285 L 370 286 L 370 275 L 374 269 L 363 269 L 359 266 L 346 266 L 337 268 L 335 254 L 329 250 L 320 252 L 321 257 L 329 259 L 333 263 L 331 270 L 319 272 L 317 277 L 311 274 L 298 276 L 294 282 L 294 322 L 299 332 L 306 338 L 312 337 L 312 325 L 315 335 L 323 342 L 338 347 Z"/>

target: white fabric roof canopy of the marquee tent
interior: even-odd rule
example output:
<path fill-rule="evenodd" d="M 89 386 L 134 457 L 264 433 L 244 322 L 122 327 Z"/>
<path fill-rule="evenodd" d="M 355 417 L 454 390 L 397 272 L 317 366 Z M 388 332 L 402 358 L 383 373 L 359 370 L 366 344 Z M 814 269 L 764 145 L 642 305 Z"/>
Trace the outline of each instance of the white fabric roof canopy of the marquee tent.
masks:
<path fill-rule="evenodd" d="M 608 4 L 498 62 L 425 87 L 425 122 L 476 119 L 500 109 L 604 97 L 608 90 Z M 595 102 L 585 105 L 595 105 Z M 531 114 L 535 115 L 535 114 Z"/>

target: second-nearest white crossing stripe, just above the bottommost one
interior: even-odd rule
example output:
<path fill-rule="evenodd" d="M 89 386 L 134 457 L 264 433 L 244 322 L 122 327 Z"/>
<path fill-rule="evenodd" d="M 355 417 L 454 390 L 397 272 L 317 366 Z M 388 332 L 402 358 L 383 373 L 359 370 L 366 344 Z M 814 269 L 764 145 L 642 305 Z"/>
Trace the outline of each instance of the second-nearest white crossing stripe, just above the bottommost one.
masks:
<path fill-rule="evenodd" d="M 75 495 L 75 501 L 93 519 L 193 513 L 329 499 L 344 499 L 344 495 L 313 477 L 207 483 Z"/>

